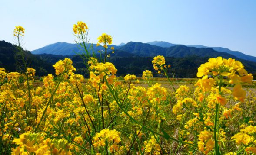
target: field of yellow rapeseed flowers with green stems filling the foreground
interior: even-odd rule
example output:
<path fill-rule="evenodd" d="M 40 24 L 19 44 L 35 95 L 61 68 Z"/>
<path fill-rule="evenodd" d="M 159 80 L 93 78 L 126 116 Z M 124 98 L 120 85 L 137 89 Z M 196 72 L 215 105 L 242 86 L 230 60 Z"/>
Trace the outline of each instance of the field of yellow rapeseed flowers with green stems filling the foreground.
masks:
<path fill-rule="evenodd" d="M 18 47 L 24 30 L 14 30 Z M 69 58 L 41 85 L 25 61 L 20 73 L 0 68 L 1 154 L 256 154 L 256 91 L 242 87 L 255 83 L 241 62 L 210 58 L 196 82 L 177 86 L 159 55 L 152 65 L 167 86 L 147 70 L 140 81 L 130 74 L 120 81 L 107 61 L 112 37 L 98 38 L 99 58 L 86 46 L 87 25 L 77 22 L 73 32 L 89 79 L 75 74 Z"/>

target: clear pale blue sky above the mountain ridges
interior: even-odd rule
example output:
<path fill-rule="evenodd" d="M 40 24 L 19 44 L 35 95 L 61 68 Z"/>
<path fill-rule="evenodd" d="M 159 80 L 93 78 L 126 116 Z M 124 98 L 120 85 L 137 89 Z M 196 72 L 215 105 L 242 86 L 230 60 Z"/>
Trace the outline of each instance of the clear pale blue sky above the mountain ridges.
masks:
<path fill-rule="evenodd" d="M 25 47 L 74 43 L 85 22 L 93 43 L 103 32 L 121 42 L 166 41 L 225 47 L 256 56 L 256 0 L 0 0 L 0 40 L 25 28 Z"/>

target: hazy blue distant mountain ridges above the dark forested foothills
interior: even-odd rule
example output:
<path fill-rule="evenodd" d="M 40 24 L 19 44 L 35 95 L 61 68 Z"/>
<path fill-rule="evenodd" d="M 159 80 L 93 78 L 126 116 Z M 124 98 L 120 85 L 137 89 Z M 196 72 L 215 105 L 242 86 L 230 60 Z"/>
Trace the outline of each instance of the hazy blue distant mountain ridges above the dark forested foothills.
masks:
<path fill-rule="evenodd" d="M 89 44 L 90 45 L 90 44 Z M 88 49 L 89 49 L 88 45 Z M 113 46 L 116 52 L 120 53 L 120 56 L 140 56 L 140 57 L 154 57 L 156 55 L 163 55 L 166 57 L 186 57 L 190 55 L 201 56 L 201 57 L 217 57 L 222 56 L 223 58 L 241 58 L 248 61 L 256 62 L 256 57 L 245 55 L 239 51 L 231 51 L 228 48 L 222 47 L 207 47 L 203 45 L 179 45 L 172 44 L 169 42 L 128 42 L 126 44 L 121 43 L 120 45 Z M 93 44 L 93 50 L 103 50 L 101 46 Z M 110 52 L 110 48 L 108 52 Z M 32 51 L 33 54 L 52 54 L 52 55 L 76 55 L 77 53 L 83 52 L 80 50 L 77 44 L 71 44 L 66 42 L 57 42 L 54 44 L 47 45 L 43 48 Z"/>

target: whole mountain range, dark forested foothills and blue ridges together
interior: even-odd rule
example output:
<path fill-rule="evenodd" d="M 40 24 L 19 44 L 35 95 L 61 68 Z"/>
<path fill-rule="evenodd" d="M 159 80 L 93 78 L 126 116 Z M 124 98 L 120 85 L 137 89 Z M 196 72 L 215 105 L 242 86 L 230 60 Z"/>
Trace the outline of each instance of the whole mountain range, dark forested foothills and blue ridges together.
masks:
<path fill-rule="evenodd" d="M 165 45 L 162 44 L 162 46 Z M 205 63 L 209 58 L 217 56 L 222 56 L 223 58 L 235 58 L 236 60 L 241 61 L 245 66 L 245 69 L 249 73 L 253 73 L 254 77 L 256 77 L 256 62 L 237 58 L 236 56 L 226 52 L 217 52 L 212 48 L 195 48 L 185 45 L 160 47 L 142 42 L 128 42 L 125 45 L 113 45 L 113 47 L 115 48 L 115 53 L 112 53 L 112 50 L 109 48 L 108 54 L 110 54 L 110 57 L 107 58 L 107 61 L 112 62 L 116 66 L 118 76 L 135 74 L 140 77 L 143 71 L 150 70 L 153 72 L 154 77 L 161 77 L 160 74 L 157 74 L 156 71 L 154 71 L 151 61 L 156 55 L 164 55 L 166 64 L 171 65 L 170 70 L 168 70 L 168 75 L 170 77 L 196 77 L 197 68 L 201 64 Z M 78 51 L 76 51 L 77 49 Z M 103 47 L 96 47 L 96 45 L 93 44 L 93 49 L 94 51 L 103 50 Z M 37 52 L 40 52 L 40 50 L 37 50 Z M 76 44 L 70 45 L 68 43 L 58 42 L 56 44 L 47 45 L 44 47 L 44 51 L 41 51 L 43 51 L 43 53 L 58 52 L 59 54 L 63 54 L 64 51 L 67 52 L 66 54 L 70 54 L 70 51 L 72 50 L 73 53 L 71 53 L 71 55 L 34 55 L 31 54 L 30 51 L 24 52 L 27 55 L 27 60 L 29 60 L 28 67 L 35 68 L 38 76 L 44 76 L 48 73 L 55 74 L 52 65 L 57 61 L 68 57 L 73 61 L 73 65 L 76 68 L 76 74 L 82 74 L 85 77 L 89 77 L 89 72 L 85 65 L 87 64 L 86 59 L 82 58 L 81 55 L 76 55 L 76 52 L 82 52 Z M 0 67 L 6 68 L 7 71 L 18 71 L 17 68 L 19 66 L 15 59 L 16 54 L 16 45 L 0 41 Z M 98 52 L 96 52 L 96 57 L 100 60 Z"/>

